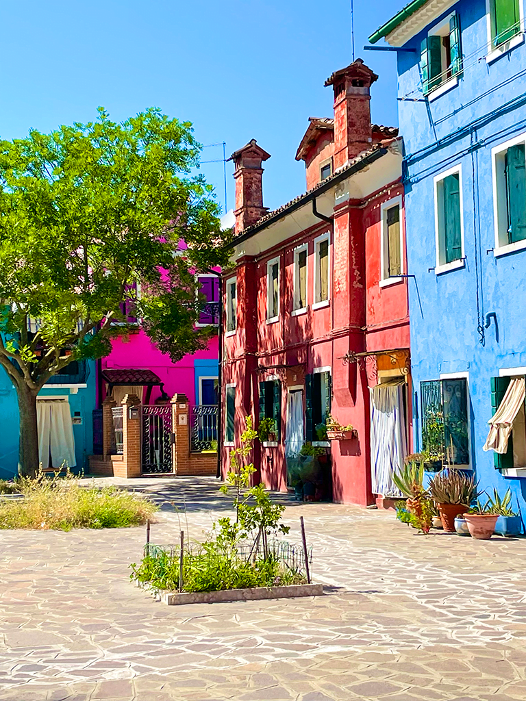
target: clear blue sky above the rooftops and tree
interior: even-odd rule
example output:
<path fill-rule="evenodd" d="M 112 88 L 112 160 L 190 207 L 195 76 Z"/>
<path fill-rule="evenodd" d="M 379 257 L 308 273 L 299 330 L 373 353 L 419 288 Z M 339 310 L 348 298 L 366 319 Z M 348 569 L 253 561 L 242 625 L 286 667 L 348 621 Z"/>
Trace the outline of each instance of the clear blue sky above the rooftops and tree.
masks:
<path fill-rule="evenodd" d="M 379 74 L 372 119 L 397 125 L 396 55 L 363 51 L 405 0 L 354 0 L 356 57 Z M 146 107 L 194 123 L 202 144 L 251 138 L 269 153 L 264 204 L 304 191 L 295 153 L 309 116 L 332 114 L 325 79 L 351 62 L 350 0 L 25 0 L 0 10 L 0 137 Z M 8 57 L 8 60 L 6 60 Z M 222 158 L 204 149 L 203 161 Z M 222 163 L 202 170 L 224 203 Z M 234 203 L 227 163 L 228 207 Z"/>

